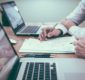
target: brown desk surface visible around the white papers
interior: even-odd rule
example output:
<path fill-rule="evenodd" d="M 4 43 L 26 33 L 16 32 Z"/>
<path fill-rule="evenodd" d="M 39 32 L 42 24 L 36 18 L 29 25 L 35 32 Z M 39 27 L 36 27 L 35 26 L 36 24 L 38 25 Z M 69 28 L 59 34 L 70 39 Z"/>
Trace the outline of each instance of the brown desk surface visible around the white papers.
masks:
<path fill-rule="evenodd" d="M 5 31 L 9 38 L 15 39 L 17 41 L 17 43 L 14 45 L 14 48 L 15 48 L 16 52 L 18 53 L 18 55 L 21 57 L 22 54 L 19 53 L 19 49 L 20 49 L 21 45 L 23 44 L 24 39 L 29 39 L 31 37 L 16 36 L 10 27 L 5 27 Z M 77 56 L 75 54 L 58 54 L 58 53 L 52 54 L 51 57 L 54 57 L 54 58 L 77 58 Z"/>

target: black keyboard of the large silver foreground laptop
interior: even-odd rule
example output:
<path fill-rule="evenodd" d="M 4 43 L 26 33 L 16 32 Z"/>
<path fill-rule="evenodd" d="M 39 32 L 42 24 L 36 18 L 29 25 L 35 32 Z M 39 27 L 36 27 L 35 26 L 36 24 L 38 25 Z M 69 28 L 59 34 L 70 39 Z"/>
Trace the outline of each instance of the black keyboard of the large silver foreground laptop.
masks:
<path fill-rule="evenodd" d="M 55 63 L 27 63 L 22 80 L 57 80 Z"/>

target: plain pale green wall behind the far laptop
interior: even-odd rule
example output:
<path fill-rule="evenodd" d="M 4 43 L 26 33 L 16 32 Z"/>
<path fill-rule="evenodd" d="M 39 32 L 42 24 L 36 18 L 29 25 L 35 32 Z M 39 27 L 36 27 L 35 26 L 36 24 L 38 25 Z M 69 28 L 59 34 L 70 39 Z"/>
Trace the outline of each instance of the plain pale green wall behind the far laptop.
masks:
<path fill-rule="evenodd" d="M 11 0 L 0 0 L 0 2 Z M 80 0 L 14 0 L 25 22 L 59 22 Z"/>

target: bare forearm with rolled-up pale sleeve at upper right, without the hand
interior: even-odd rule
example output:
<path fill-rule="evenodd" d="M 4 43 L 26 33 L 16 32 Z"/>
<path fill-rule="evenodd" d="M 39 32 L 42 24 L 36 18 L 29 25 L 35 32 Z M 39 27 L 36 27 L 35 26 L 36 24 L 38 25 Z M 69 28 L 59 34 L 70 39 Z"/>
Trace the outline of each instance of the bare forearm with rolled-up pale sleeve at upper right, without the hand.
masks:
<path fill-rule="evenodd" d="M 79 25 L 85 20 L 85 0 L 81 0 L 79 5 L 61 23 L 69 29 L 71 26 Z"/>

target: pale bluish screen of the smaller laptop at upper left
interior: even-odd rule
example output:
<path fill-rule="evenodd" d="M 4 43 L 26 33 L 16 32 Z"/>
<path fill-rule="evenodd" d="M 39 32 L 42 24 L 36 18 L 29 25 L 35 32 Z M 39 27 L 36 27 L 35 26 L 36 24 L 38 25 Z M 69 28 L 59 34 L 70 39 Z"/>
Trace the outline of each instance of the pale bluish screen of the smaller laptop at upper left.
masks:
<path fill-rule="evenodd" d="M 6 15 L 9 18 L 13 29 L 16 29 L 19 25 L 23 24 L 22 17 L 18 11 L 15 2 L 5 3 L 2 6 L 5 10 Z"/>

